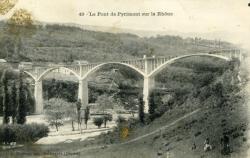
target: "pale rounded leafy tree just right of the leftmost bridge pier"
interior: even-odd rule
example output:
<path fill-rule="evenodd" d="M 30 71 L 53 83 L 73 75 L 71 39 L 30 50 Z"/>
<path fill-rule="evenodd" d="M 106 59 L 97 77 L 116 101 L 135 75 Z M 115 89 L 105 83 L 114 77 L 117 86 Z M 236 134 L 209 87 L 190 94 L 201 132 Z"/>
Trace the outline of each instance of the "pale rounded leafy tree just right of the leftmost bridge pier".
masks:
<path fill-rule="evenodd" d="M 59 98 L 52 98 L 45 102 L 45 116 L 50 126 L 55 126 L 56 131 L 63 125 L 63 119 L 66 110 L 63 107 L 67 106 L 67 102 Z"/>

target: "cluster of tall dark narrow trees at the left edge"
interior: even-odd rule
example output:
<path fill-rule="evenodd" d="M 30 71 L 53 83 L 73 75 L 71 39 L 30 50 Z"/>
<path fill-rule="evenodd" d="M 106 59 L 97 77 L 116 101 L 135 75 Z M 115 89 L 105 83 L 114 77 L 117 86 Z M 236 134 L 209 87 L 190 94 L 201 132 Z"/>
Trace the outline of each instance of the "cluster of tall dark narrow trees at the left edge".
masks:
<path fill-rule="evenodd" d="M 27 112 L 32 112 L 34 109 L 34 101 L 28 85 L 24 84 L 21 74 L 14 73 L 11 69 L 6 68 L 0 71 L 0 74 L 2 75 L 0 114 L 3 115 L 3 123 L 9 123 L 12 118 L 12 123 L 23 124 Z"/>

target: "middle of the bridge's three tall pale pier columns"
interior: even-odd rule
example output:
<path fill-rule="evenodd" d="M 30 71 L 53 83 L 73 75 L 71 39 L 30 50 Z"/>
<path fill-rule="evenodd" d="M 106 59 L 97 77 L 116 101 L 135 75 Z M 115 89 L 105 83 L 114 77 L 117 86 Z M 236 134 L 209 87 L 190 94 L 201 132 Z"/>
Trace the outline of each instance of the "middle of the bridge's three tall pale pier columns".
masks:
<path fill-rule="evenodd" d="M 79 88 L 78 88 L 78 99 L 81 100 L 83 106 L 87 106 L 89 103 L 89 94 L 88 94 L 88 80 L 83 79 L 79 80 Z"/>

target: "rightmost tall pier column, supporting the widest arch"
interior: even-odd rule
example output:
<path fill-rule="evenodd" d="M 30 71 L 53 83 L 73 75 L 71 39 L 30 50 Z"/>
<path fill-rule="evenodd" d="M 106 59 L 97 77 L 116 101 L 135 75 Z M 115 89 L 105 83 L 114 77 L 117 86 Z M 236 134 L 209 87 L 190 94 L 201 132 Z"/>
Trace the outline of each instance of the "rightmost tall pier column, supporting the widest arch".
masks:
<path fill-rule="evenodd" d="M 144 77 L 144 84 L 143 84 L 143 101 L 144 101 L 144 113 L 148 113 L 149 110 L 149 95 L 154 88 L 154 78 Z"/>

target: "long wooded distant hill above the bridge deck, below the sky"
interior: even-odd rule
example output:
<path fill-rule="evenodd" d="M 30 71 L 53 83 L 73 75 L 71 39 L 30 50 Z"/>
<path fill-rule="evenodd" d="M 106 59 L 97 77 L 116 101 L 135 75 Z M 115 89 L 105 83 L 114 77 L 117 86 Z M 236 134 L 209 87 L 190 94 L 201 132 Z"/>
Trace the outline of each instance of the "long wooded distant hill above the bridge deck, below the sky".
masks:
<path fill-rule="evenodd" d="M 22 37 L 14 49 L 12 36 L 0 22 L 0 58 L 9 61 L 89 62 L 133 59 L 134 57 L 181 55 L 235 47 L 229 42 L 182 38 L 180 36 L 139 37 L 130 33 L 90 31 L 69 24 L 39 24 L 31 37 Z"/>

